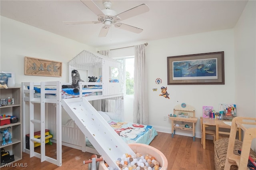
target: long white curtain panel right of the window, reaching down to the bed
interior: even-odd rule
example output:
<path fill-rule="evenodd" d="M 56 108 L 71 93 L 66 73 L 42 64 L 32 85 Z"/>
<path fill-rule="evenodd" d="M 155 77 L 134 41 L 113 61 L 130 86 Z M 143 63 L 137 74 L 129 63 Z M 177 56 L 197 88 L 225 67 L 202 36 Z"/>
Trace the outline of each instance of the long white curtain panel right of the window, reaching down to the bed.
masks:
<path fill-rule="evenodd" d="M 148 125 L 148 91 L 145 44 L 135 46 L 134 56 L 134 123 Z"/>

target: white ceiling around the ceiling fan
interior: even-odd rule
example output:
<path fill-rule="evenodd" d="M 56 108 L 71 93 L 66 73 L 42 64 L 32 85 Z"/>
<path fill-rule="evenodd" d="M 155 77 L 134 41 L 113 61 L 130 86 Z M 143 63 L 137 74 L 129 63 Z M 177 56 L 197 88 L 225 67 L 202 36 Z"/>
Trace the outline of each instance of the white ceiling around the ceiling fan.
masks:
<path fill-rule="evenodd" d="M 104 9 L 102 0 L 94 0 Z M 136 34 L 112 26 L 98 37 L 103 24 L 66 25 L 63 21 L 98 21 L 80 0 L 0 0 L 1 16 L 93 47 L 170 38 L 233 28 L 247 0 L 112 0 L 117 14 L 146 4 L 149 12 L 123 20 L 142 28 Z"/>

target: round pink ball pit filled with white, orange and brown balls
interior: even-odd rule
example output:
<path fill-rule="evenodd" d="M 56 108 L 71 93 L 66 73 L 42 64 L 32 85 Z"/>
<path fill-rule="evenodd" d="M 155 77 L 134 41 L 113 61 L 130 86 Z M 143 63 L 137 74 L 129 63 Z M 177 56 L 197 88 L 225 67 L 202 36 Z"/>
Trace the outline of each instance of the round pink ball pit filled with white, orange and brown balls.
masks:
<path fill-rule="evenodd" d="M 167 170 L 168 161 L 164 156 L 164 154 L 160 152 L 158 149 L 152 146 L 149 146 L 146 144 L 140 144 L 140 143 L 133 143 L 128 145 L 135 152 L 136 157 L 143 158 L 143 159 L 140 159 L 140 162 L 138 162 L 140 166 L 137 166 L 136 167 L 137 169 L 135 168 L 135 170 L 144 170 L 145 165 L 148 165 L 148 167 L 151 167 L 151 168 L 154 167 L 155 170 Z M 150 156 L 150 158 L 148 156 Z M 129 155 L 126 155 L 125 153 L 123 153 L 123 155 L 117 155 L 116 162 L 117 164 L 119 163 L 119 165 L 122 166 L 122 167 L 119 166 L 120 169 L 132 170 L 131 168 L 132 166 L 128 167 L 128 162 L 132 162 L 132 161 L 130 161 L 130 158 L 127 158 L 127 157 L 129 157 Z M 99 170 L 108 170 L 108 168 L 105 166 L 103 161 L 100 162 Z"/>

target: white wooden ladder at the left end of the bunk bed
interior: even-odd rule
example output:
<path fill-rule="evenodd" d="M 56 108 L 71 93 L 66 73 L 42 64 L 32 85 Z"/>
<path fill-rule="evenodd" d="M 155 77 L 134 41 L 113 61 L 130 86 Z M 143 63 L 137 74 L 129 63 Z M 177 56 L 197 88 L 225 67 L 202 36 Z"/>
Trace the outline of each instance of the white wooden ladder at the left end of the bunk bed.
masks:
<path fill-rule="evenodd" d="M 55 90 L 46 90 L 46 86 L 55 86 Z M 57 166 L 62 165 L 62 132 L 61 132 L 61 84 L 60 81 L 41 82 L 40 84 L 40 98 L 34 98 L 34 83 L 29 83 L 29 113 L 30 113 L 30 158 L 36 156 L 41 159 L 41 162 L 48 161 Z M 56 94 L 56 99 L 46 99 L 45 94 Z M 26 99 L 24 99 L 26 101 Z M 34 103 L 40 103 L 40 119 L 35 119 L 34 116 Z M 56 146 L 57 146 L 57 159 L 46 156 L 45 150 L 45 129 L 46 129 L 46 103 L 56 103 Z M 41 137 L 34 137 L 34 125 L 40 125 Z M 34 152 L 34 142 L 40 143 L 40 154 Z"/>

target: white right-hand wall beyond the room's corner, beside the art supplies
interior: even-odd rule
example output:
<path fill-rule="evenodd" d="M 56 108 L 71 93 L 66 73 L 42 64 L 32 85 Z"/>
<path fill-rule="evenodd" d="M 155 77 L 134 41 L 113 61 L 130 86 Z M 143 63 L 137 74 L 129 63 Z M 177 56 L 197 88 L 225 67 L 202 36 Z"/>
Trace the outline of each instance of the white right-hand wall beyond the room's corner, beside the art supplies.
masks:
<path fill-rule="evenodd" d="M 249 1 L 234 28 L 236 93 L 240 116 L 256 117 L 256 2 Z M 252 143 L 256 150 L 256 139 Z"/>

